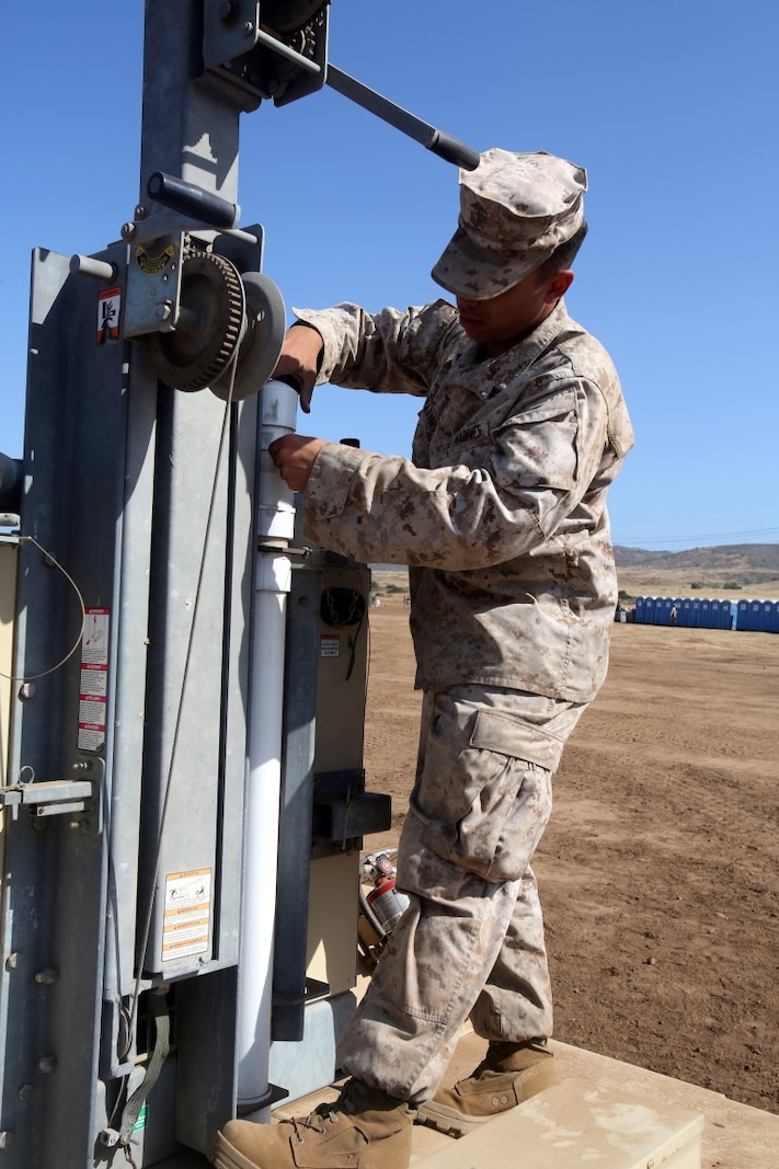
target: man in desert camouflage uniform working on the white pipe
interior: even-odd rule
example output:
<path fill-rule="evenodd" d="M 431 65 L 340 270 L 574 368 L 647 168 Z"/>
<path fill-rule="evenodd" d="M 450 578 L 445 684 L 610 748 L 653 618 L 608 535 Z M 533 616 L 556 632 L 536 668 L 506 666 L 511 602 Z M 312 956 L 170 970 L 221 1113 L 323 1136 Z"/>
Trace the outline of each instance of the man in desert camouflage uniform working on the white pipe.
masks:
<path fill-rule="evenodd" d="M 398 855 L 411 905 L 306 1120 L 230 1121 L 220 1169 L 402 1169 L 411 1126 L 460 1134 L 553 1082 L 531 857 L 567 736 L 600 687 L 616 604 L 606 491 L 633 443 L 619 379 L 563 296 L 585 172 L 491 150 L 461 172 L 444 300 L 301 311 L 277 372 L 425 399 L 412 459 L 301 435 L 271 454 L 317 544 L 409 566 L 419 766 Z M 439 1087 L 470 1018 L 484 1061 Z"/>

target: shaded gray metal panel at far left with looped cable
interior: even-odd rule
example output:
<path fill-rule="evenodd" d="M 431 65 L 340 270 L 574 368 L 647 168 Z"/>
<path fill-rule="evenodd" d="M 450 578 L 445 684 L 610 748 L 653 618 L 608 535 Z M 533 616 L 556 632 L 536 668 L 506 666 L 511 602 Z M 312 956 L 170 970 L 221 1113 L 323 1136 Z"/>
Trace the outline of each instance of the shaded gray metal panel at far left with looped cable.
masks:
<path fill-rule="evenodd" d="M 108 254 L 106 254 L 108 256 Z M 123 263 L 124 248 L 112 260 Z M 96 343 L 97 286 L 69 276 L 69 261 L 37 250 L 33 261 L 30 361 L 25 438 L 22 534 L 67 568 L 89 608 L 116 615 L 116 574 L 125 490 L 122 452 L 126 395 L 120 340 Z M 117 451 L 119 452 L 117 457 Z M 29 677 L 55 665 L 78 630 L 78 606 L 37 547 L 22 545 L 20 653 Z M 117 622 L 109 621 L 105 743 L 115 725 Z M 81 656 L 30 684 L 14 710 L 13 769 L 35 780 L 69 779 L 94 758 L 78 747 Z M 28 773 L 29 774 L 29 773 Z M 110 800 L 106 768 L 101 807 Z M 4 982 L 6 1058 L 2 1128 L 8 1163 L 77 1167 L 91 1147 L 92 1085 L 102 992 L 106 853 L 99 810 L 8 822 Z M 84 963 L 84 954 L 90 961 Z M 56 1136 L 54 1136 L 56 1134 Z"/>

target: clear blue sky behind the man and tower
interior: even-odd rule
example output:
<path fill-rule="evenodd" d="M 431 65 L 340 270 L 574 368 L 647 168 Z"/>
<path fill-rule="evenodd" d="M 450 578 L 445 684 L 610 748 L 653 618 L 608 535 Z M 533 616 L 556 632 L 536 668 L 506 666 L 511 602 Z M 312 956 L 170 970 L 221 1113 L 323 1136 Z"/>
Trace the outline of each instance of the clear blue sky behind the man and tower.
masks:
<path fill-rule="evenodd" d="M 143 4 L 41 0 L 4 26 L 0 450 L 19 457 L 29 254 L 98 251 L 138 200 Z M 778 40 L 773 0 L 332 0 L 340 69 L 476 150 L 587 167 L 567 304 L 636 430 L 616 544 L 779 540 Z M 333 90 L 243 116 L 239 200 L 290 317 L 441 292 L 456 170 Z M 418 406 L 324 387 L 299 426 L 407 455 Z"/>

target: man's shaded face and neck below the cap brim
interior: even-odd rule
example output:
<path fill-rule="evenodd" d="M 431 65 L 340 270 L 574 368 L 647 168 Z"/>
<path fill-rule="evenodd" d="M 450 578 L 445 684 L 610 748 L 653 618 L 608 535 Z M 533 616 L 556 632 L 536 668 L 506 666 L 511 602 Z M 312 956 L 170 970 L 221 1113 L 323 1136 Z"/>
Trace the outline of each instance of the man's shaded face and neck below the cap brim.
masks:
<path fill-rule="evenodd" d="M 568 270 L 554 276 L 536 271 L 489 300 L 457 297 L 460 324 L 473 341 L 484 346 L 488 357 L 497 357 L 549 317 L 572 279 Z"/>

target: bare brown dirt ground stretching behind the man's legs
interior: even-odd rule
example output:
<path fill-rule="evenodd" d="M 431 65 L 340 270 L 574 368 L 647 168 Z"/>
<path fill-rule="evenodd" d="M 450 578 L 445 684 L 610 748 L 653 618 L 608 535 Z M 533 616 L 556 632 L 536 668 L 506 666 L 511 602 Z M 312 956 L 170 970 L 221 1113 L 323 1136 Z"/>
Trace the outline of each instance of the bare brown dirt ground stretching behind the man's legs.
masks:
<path fill-rule="evenodd" d="M 416 755 L 408 610 L 371 610 L 365 766 Z M 779 1113 L 779 636 L 615 624 L 536 855 L 556 1037 Z"/>

